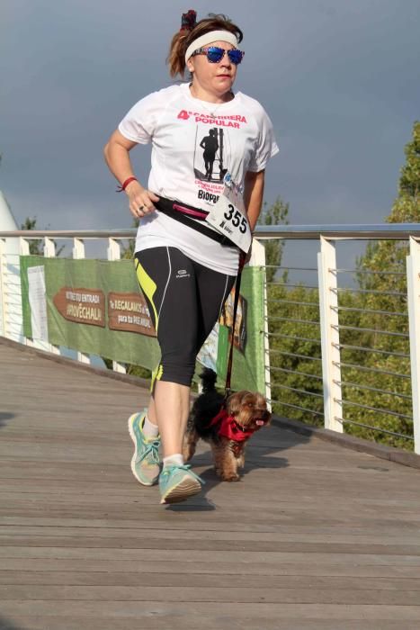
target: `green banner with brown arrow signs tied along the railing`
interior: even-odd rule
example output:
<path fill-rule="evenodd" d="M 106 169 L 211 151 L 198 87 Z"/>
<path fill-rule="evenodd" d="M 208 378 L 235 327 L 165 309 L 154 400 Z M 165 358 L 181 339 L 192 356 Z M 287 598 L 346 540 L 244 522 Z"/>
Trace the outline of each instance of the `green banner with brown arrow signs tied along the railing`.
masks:
<path fill-rule="evenodd" d="M 130 260 L 21 257 L 23 331 L 55 346 L 153 370 L 160 356 L 147 304 Z M 233 292 L 199 355 L 226 378 Z M 264 392 L 264 280 L 259 267 L 242 275 L 235 327 L 233 389 Z M 197 377 L 197 376 L 196 376 Z"/>

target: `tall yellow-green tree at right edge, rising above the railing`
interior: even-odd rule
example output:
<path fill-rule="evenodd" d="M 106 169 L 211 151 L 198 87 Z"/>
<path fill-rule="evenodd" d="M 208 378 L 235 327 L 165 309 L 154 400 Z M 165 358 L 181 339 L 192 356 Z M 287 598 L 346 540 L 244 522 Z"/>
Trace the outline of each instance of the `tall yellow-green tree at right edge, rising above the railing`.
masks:
<path fill-rule="evenodd" d="M 401 168 L 398 197 L 387 217 L 389 223 L 420 222 L 420 122 L 416 121 L 413 137 L 405 148 L 406 164 Z M 343 362 L 370 368 L 360 371 L 354 368 L 344 371 L 343 381 L 356 383 L 358 386 L 344 387 L 344 398 L 371 407 L 376 410 L 389 410 L 398 413 L 367 410 L 363 408 L 344 408 L 347 417 L 363 424 L 408 435 L 412 433 L 411 383 L 410 374 L 408 318 L 407 318 L 407 276 L 406 241 L 383 240 L 370 244 L 365 254 L 357 262 L 357 279 L 362 292 L 354 296 L 361 314 L 357 325 L 363 332 L 353 331 L 353 341 L 346 343 L 373 349 L 374 352 L 359 353 L 352 356 L 352 351 L 342 358 Z M 354 353 L 353 353 L 354 354 Z M 357 358 L 357 361 L 354 359 Z M 378 372 L 373 372 L 373 370 Z M 396 376 L 393 374 L 401 374 Z M 362 381 L 362 383 L 361 383 Z M 361 386 L 363 385 L 363 387 Z M 371 390 L 364 389 L 371 387 Z M 380 389 L 386 392 L 374 392 Z M 393 446 L 407 447 L 407 440 L 386 434 L 353 427 L 350 433 L 373 437 L 379 442 Z"/>

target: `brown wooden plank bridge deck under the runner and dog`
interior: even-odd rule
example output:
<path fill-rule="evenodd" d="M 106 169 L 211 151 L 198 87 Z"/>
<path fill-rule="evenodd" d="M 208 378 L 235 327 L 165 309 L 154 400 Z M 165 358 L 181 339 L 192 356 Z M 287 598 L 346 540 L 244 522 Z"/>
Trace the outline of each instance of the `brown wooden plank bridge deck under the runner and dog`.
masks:
<path fill-rule="evenodd" d="M 418 630 L 420 471 L 278 427 L 202 496 L 130 472 L 147 392 L 0 342 L 0 628 Z"/>

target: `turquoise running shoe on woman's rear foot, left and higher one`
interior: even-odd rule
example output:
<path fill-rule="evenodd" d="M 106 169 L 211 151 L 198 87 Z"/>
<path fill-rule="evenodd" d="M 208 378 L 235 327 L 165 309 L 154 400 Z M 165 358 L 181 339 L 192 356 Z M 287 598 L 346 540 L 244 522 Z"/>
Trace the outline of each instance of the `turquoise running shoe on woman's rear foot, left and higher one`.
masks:
<path fill-rule="evenodd" d="M 129 418 L 130 437 L 134 442 L 134 455 L 131 458 L 131 470 L 138 482 L 144 486 L 153 486 L 159 477 L 160 437 L 148 438 L 144 435 L 146 412 L 133 413 Z"/>

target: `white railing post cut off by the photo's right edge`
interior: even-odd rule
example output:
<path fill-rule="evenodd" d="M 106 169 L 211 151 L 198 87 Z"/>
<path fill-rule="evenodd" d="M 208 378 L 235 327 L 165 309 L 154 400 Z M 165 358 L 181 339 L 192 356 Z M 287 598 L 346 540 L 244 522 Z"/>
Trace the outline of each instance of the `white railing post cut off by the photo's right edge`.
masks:
<path fill-rule="evenodd" d="M 407 299 L 410 329 L 411 389 L 415 453 L 420 455 L 420 243 L 410 237 L 407 256 Z"/>

